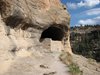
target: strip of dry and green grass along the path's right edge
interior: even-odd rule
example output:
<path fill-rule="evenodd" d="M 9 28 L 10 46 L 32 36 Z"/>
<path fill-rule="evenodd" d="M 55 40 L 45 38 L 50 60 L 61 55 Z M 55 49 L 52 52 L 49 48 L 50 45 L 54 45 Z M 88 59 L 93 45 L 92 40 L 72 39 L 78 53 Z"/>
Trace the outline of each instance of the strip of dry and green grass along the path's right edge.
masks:
<path fill-rule="evenodd" d="M 73 56 L 67 52 L 62 52 L 62 54 L 60 55 L 60 60 L 68 65 L 69 67 L 69 72 L 72 75 L 83 75 L 83 71 L 80 70 L 79 66 L 74 63 L 74 59 Z"/>

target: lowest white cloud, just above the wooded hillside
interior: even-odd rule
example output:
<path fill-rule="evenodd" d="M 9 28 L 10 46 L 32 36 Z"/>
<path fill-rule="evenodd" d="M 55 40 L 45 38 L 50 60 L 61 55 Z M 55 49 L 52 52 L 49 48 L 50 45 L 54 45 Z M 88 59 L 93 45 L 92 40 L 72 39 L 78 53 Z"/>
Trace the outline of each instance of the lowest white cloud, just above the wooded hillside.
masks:
<path fill-rule="evenodd" d="M 100 16 L 97 16 L 97 17 L 92 18 L 92 19 L 80 20 L 78 22 L 78 24 L 82 24 L 82 25 L 86 25 L 86 24 L 90 24 L 90 25 L 100 24 Z"/>

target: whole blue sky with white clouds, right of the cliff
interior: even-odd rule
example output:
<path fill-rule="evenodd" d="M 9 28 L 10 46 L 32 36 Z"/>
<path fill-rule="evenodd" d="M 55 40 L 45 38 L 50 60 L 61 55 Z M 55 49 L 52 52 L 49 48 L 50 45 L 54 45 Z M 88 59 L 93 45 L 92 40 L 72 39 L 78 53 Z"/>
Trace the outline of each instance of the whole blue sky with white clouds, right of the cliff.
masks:
<path fill-rule="evenodd" d="M 100 24 L 100 0 L 61 0 L 71 15 L 71 26 Z"/>

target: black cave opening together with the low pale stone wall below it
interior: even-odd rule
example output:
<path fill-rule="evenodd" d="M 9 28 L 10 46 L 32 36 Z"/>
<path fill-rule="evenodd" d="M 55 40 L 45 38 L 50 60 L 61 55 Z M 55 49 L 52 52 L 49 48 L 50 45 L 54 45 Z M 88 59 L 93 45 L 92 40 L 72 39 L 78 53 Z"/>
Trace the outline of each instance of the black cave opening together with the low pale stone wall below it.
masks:
<path fill-rule="evenodd" d="M 43 47 L 50 49 L 51 52 L 58 52 L 64 49 L 62 44 L 63 38 L 63 29 L 51 26 L 42 32 L 40 42 L 43 42 Z"/>

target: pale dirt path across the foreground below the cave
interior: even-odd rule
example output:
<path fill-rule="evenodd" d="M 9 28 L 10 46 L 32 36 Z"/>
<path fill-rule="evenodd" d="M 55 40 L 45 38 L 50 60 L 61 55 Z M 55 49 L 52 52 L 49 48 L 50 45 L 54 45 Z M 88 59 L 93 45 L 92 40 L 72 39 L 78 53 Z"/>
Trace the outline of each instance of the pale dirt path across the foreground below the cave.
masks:
<path fill-rule="evenodd" d="M 43 57 L 17 57 L 3 75 L 69 75 L 67 66 L 59 60 L 58 55 L 46 53 Z"/>

